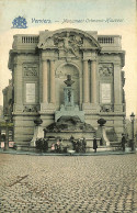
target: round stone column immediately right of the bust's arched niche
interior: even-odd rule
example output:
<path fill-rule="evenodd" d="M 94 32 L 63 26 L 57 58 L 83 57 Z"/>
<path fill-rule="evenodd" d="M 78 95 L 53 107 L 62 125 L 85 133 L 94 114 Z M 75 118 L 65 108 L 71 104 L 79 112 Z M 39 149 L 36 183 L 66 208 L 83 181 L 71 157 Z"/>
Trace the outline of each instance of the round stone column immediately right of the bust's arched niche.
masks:
<path fill-rule="evenodd" d="M 89 103 L 89 70 L 88 70 L 88 60 L 83 60 L 83 103 Z"/>

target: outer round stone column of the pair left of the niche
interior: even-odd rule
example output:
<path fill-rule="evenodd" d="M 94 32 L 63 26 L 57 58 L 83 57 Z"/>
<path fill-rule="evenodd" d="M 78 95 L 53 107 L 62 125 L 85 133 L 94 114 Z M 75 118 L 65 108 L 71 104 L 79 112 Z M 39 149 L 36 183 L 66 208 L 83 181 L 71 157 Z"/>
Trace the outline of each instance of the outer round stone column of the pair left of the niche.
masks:
<path fill-rule="evenodd" d="M 48 102 L 47 60 L 43 60 L 43 103 Z"/>

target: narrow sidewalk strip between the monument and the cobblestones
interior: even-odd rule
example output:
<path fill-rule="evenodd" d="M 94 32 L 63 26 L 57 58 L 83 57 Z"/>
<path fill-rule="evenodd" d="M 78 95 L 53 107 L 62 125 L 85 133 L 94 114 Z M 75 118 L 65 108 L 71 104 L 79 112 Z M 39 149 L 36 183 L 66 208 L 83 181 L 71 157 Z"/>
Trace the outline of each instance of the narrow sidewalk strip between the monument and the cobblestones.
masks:
<path fill-rule="evenodd" d="M 106 156 L 106 155 L 128 155 L 128 154 L 136 154 L 136 150 L 132 152 L 123 152 L 123 150 L 113 150 L 113 152 L 96 152 L 96 153 L 33 153 L 33 152 L 23 152 L 23 150 L 15 150 L 9 148 L 9 150 L 3 150 L 0 148 L 0 154 L 12 154 L 12 155 L 32 155 L 32 156 Z"/>

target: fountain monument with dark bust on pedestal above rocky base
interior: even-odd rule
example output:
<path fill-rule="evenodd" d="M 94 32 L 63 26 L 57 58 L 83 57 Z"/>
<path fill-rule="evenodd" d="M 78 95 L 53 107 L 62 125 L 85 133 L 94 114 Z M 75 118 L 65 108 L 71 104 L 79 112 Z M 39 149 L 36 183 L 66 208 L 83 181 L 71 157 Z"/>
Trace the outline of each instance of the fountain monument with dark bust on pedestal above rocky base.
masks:
<path fill-rule="evenodd" d="M 64 88 L 64 104 L 60 105 L 60 110 L 55 112 L 55 122 L 44 128 L 44 137 L 49 139 L 50 143 L 58 138 L 62 138 L 66 146 L 70 146 L 70 137 L 76 139 L 87 138 L 87 145 L 92 146 L 93 135 L 95 130 L 84 122 L 84 112 L 79 110 L 79 107 L 75 104 L 75 91 L 72 89 L 73 80 L 71 76 L 67 76 L 67 80 L 64 81 L 66 87 Z"/>

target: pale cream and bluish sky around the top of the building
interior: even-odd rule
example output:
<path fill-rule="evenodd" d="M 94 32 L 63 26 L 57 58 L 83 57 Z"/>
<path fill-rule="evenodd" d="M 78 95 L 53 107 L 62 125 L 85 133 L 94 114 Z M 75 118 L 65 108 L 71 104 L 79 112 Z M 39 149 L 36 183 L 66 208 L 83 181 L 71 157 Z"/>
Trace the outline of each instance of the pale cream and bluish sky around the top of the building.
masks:
<path fill-rule="evenodd" d="M 26 19 L 27 29 L 12 29 L 12 21 L 19 15 Z M 65 27 L 122 35 L 122 48 L 126 52 L 126 113 L 137 114 L 136 0 L 0 0 L 0 105 L 2 89 L 11 78 L 8 59 L 13 35 Z"/>

